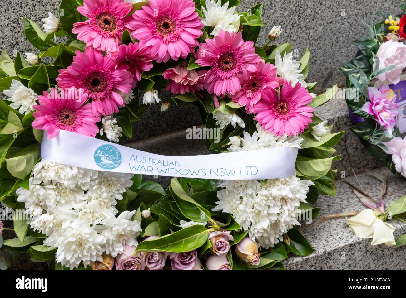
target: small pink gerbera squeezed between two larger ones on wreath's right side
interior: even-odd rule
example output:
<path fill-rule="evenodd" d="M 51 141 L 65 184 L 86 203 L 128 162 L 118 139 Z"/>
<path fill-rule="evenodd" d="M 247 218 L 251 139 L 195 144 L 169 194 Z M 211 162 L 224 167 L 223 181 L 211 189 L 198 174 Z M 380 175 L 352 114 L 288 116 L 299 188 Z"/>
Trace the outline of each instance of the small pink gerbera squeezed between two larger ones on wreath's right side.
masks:
<path fill-rule="evenodd" d="M 262 96 L 262 92 L 267 88 L 278 89 L 283 79 L 276 74 L 276 68 L 269 62 L 264 64 L 261 59 L 257 65 L 257 71 L 254 73 L 245 73 L 242 89 L 237 93 L 230 95 L 238 105 L 245 107 L 248 113 L 252 113 L 255 105 Z"/>

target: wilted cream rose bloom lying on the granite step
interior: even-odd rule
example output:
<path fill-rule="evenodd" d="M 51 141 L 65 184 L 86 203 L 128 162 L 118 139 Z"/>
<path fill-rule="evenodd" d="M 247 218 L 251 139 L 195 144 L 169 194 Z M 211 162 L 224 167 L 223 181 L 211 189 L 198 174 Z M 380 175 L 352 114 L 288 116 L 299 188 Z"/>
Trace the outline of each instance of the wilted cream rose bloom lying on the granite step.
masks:
<path fill-rule="evenodd" d="M 378 219 L 372 209 L 362 210 L 356 216 L 348 218 L 347 224 L 356 236 L 363 239 L 372 238 L 372 245 L 382 243 L 386 245 L 396 244 L 393 237 L 395 228 L 391 224 Z"/>

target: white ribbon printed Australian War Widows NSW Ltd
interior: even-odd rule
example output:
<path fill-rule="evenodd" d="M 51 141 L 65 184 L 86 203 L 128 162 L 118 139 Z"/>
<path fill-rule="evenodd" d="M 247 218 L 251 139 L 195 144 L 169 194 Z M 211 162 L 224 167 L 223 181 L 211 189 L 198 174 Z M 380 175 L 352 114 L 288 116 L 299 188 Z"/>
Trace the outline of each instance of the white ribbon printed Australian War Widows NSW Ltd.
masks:
<path fill-rule="evenodd" d="M 298 148 L 281 147 L 220 154 L 165 156 L 60 130 L 41 143 L 48 161 L 108 172 L 222 180 L 263 180 L 296 174 Z"/>

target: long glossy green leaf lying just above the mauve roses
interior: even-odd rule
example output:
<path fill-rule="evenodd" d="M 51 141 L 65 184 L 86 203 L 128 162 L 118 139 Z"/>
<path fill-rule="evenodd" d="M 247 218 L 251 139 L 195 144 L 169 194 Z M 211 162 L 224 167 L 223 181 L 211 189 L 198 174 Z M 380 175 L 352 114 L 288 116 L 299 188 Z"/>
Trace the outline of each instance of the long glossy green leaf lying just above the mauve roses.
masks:
<path fill-rule="evenodd" d="M 203 225 L 192 225 L 173 234 L 140 242 L 134 254 L 143 251 L 168 251 L 172 253 L 192 251 L 206 242 L 209 232 L 210 230 L 203 227 Z"/>

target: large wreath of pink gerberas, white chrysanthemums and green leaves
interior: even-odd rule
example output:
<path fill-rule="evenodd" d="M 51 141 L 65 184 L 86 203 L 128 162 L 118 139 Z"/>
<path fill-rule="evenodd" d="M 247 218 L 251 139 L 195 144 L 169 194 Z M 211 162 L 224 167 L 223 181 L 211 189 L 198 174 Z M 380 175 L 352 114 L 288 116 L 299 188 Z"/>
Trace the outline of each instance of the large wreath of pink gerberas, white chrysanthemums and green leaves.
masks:
<path fill-rule="evenodd" d="M 38 55 L 13 61 L 3 51 L 0 200 L 30 219 L 15 217 L 16 238 L 2 248 L 55 260 L 57 270 L 283 269 L 288 253 L 312 253 L 294 226 L 298 215 L 317 216 L 319 194 L 336 193 L 332 146 L 343 132 L 331 133 L 314 108 L 337 86 L 311 93 L 309 50 L 296 61 L 291 44 L 274 44 L 280 27 L 256 45 L 262 4 L 239 13 L 240 1 L 135 2 L 62 0 L 44 30 L 24 19 Z M 173 96 L 162 111 L 191 103 L 206 128 L 220 129 L 210 152 L 298 148 L 296 175 L 173 178 L 164 190 L 140 174 L 40 158 L 45 133 L 131 138 L 131 122 L 163 88 Z"/>

